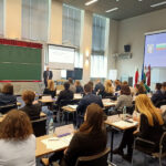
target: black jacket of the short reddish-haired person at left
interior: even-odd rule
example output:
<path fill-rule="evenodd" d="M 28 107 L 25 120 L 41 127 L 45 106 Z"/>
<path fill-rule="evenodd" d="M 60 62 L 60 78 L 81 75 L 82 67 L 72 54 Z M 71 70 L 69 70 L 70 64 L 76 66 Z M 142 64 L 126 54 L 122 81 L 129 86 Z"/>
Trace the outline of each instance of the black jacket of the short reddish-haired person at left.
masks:
<path fill-rule="evenodd" d="M 25 112 L 31 121 L 40 118 L 40 113 L 41 113 L 40 104 L 34 104 L 34 105 L 28 104 L 28 105 L 21 107 L 20 110 Z"/>

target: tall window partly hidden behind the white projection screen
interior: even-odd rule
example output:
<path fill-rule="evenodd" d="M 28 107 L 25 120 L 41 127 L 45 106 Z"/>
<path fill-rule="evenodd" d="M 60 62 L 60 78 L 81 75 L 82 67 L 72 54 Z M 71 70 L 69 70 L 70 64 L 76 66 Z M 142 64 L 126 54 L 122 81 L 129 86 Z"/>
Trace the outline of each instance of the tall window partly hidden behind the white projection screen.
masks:
<path fill-rule="evenodd" d="M 74 66 L 83 68 L 83 55 L 80 53 L 82 10 L 63 4 L 62 43 L 76 46 Z M 65 76 L 66 71 L 62 71 Z"/>

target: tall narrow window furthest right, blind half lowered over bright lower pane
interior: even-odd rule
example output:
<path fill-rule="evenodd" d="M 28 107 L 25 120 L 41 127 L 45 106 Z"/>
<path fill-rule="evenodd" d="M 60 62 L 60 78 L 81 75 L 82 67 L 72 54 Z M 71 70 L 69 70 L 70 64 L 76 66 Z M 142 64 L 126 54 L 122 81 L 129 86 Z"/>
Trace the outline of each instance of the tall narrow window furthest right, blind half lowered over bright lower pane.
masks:
<path fill-rule="evenodd" d="M 106 77 L 105 58 L 106 18 L 93 15 L 91 77 Z"/>

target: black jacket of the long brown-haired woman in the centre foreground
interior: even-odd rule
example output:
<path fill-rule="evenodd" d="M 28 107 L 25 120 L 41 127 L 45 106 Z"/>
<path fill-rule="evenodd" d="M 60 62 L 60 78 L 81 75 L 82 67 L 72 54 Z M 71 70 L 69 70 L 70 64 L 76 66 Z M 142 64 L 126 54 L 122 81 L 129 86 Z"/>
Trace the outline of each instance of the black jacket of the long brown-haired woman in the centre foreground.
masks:
<path fill-rule="evenodd" d="M 105 131 L 90 134 L 77 132 L 69 145 L 61 166 L 74 166 L 77 157 L 103 152 L 106 148 L 106 143 Z"/>

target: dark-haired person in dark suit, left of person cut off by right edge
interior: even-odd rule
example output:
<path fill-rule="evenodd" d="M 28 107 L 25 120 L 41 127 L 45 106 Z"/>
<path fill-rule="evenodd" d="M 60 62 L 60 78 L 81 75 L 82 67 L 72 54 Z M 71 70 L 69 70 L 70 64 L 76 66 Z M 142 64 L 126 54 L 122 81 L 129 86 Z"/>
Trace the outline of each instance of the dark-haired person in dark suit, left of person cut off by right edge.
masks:
<path fill-rule="evenodd" d="M 156 83 L 156 92 L 153 94 L 151 100 L 154 103 L 154 105 L 156 105 L 158 102 L 164 100 L 164 95 L 162 93 L 162 84 L 160 83 Z"/>

